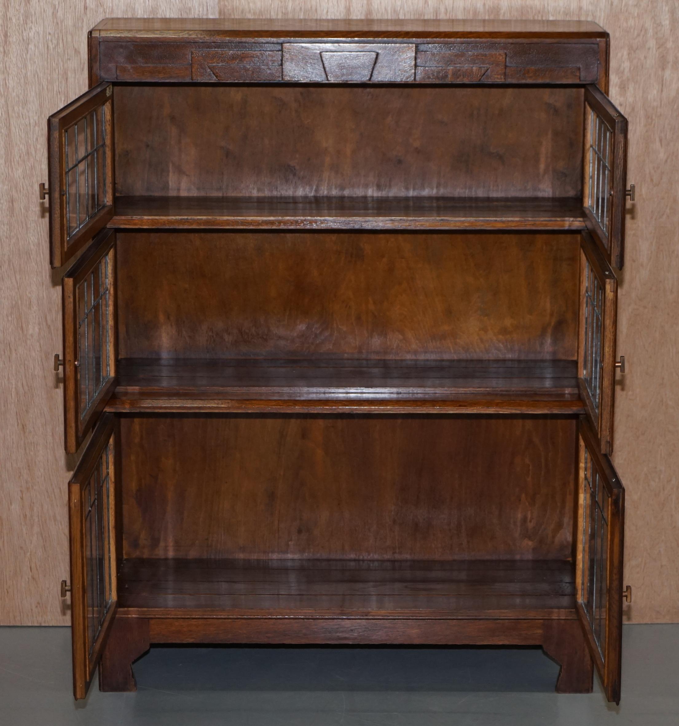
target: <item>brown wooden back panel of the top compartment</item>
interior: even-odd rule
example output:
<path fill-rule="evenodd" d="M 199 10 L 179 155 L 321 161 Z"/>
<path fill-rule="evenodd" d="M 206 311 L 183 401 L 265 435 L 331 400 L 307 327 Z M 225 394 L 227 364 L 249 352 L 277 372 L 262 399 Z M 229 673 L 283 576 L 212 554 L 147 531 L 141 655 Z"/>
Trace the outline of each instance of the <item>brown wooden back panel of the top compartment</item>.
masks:
<path fill-rule="evenodd" d="M 118 86 L 118 195 L 578 197 L 582 88 Z"/>

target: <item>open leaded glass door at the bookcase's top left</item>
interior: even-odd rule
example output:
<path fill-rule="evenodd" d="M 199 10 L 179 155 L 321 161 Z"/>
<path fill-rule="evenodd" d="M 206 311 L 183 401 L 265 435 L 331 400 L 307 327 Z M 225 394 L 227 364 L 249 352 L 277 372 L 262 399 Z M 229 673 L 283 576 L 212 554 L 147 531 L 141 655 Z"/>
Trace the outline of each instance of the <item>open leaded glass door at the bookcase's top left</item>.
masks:
<path fill-rule="evenodd" d="M 49 117 L 50 263 L 60 267 L 113 216 L 113 86 Z"/>

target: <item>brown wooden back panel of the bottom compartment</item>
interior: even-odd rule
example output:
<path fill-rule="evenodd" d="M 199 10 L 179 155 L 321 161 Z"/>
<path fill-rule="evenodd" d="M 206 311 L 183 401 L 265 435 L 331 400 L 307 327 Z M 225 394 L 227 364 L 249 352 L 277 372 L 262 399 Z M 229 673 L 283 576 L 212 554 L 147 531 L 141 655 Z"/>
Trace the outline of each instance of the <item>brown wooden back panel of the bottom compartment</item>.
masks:
<path fill-rule="evenodd" d="M 572 557 L 574 419 L 158 416 L 121 431 L 126 558 Z"/>

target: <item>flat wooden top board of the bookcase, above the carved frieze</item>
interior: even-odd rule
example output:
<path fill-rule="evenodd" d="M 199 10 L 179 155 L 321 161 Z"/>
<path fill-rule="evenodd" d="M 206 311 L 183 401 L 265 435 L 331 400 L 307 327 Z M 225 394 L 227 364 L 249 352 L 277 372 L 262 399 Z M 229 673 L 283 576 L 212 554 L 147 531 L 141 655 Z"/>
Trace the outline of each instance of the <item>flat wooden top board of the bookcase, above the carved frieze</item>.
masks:
<path fill-rule="evenodd" d="M 285 20 L 107 17 L 98 36 L 193 38 L 606 38 L 590 20 Z"/>

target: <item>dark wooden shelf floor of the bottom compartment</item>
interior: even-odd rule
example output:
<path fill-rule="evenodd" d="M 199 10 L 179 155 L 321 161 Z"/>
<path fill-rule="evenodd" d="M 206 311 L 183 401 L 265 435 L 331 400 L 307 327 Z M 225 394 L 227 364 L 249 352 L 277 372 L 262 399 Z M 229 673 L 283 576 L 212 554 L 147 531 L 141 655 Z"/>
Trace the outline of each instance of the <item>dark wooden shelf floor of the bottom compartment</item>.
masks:
<path fill-rule="evenodd" d="M 562 560 L 128 559 L 118 607 L 135 616 L 569 618 Z"/>

